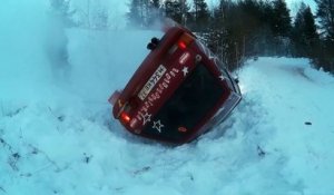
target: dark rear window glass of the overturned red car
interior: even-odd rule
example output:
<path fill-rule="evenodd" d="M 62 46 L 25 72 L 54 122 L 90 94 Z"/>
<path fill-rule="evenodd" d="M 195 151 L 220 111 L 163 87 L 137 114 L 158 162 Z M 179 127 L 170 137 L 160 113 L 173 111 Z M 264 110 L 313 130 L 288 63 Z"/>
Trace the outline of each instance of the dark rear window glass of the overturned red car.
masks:
<path fill-rule="evenodd" d="M 171 140 L 181 139 L 217 104 L 223 94 L 219 82 L 199 64 L 143 133 Z"/>

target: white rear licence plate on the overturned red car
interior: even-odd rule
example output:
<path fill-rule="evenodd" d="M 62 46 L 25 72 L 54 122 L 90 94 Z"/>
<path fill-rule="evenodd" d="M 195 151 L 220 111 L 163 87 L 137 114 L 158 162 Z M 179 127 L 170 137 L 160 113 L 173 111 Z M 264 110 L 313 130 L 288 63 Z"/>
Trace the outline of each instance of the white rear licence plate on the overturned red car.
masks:
<path fill-rule="evenodd" d="M 156 84 L 164 76 L 166 70 L 167 69 L 163 65 L 160 65 L 158 67 L 158 69 L 156 69 L 156 71 L 153 74 L 153 76 L 150 76 L 148 81 L 145 84 L 143 89 L 139 91 L 139 94 L 138 94 L 139 99 L 144 100 L 147 97 L 147 95 L 151 91 L 151 89 L 156 86 Z"/>

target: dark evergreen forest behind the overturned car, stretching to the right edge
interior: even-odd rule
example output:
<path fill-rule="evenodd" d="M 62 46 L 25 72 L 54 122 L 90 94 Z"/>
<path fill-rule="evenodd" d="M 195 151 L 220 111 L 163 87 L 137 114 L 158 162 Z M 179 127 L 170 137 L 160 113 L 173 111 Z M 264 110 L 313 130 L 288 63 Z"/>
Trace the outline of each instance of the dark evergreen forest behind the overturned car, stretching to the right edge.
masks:
<path fill-rule="evenodd" d="M 316 0 L 317 11 L 299 4 L 296 16 L 284 0 L 131 0 L 128 26 L 150 28 L 170 18 L 194 31 L 230 69 L 258 56 L 310 58 L 334 72 L 334 0 Z M 316 22 L 317 21 L 317 22 Z"/>

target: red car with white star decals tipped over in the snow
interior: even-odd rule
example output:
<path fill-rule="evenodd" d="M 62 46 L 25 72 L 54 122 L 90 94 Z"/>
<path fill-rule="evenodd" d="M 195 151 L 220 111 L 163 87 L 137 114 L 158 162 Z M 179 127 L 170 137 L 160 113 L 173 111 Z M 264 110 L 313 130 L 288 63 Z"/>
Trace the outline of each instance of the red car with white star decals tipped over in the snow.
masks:
<path fill-rule="evenodd" d="M 127 86 L 109 98 L 130 133 L 184 144 L 222 123 L 242 99 L 237 81 L 194 33 L 170 28 Z"/>

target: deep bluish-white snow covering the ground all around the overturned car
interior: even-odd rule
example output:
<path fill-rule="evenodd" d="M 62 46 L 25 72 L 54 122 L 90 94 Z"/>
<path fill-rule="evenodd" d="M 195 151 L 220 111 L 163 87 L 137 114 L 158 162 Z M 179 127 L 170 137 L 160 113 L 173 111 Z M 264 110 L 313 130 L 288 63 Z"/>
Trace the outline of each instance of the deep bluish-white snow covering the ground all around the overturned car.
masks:
<path fill-rule="evenodd" d="M 58 65 L 45 49 L 59 46 L 42 7 L 18 16 L 4 3 L 0 195 L 334 194 L 334 79 L 308 60 L 247 61 L 233 115 L 171 147 L 125 131 L 107 103 L 160 32 L 59 30 L 68 59 Z M 12 17 L 26 23 L 6 25 Z"/>

